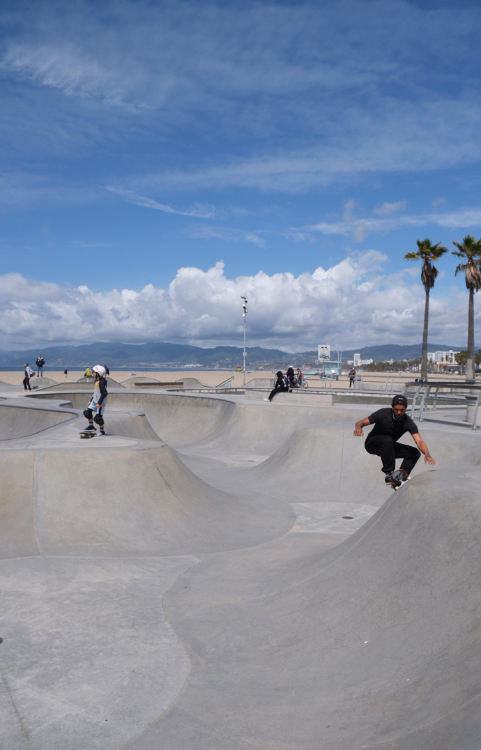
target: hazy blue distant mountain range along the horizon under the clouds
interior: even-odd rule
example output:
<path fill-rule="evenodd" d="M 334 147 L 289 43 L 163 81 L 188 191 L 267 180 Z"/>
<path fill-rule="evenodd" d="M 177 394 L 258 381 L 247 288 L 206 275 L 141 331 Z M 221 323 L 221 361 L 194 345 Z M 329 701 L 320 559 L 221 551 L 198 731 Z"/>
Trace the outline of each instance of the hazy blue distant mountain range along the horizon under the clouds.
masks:
<path fill-rule="evenodd" d="M 429 352 L 459 351 L 465 347 L 453 347 L 447 344 L 428 344 Z M 262 347 L 247 347 L 246 368 L 284 368 L 288 365 L 296 367 L 314 367 L 317 349 L 295 354 L 279 349 L 263 349 Z M 422 344 L 402 346 L 400 344 L 383 344 L 379 347 L 359 347 L 358 349 L 342 352 L 342 361 L 352 360 L 354 353 L 359 353 L 361 359 L 372 359 L 374 362 L 389 362 L 394 359 L 402 362 L 404 359 L 419 359 Z M 62 346 L 47 347 L 40 350 L 26 350 L 12 352 L 0 350 L 0 368 L 2 366 L 20 367 L 24 362 L 35 365 L 35 359 L 41 354 L 47 368 L 86 367 L 87 365 L 107 363 L 109 368 L 142 368 L 142 367 L 173 367 L 185 368 L 197 365 L 203 368 L 236 368 L 243 364 L 242 347 L 214 347 L 203 349 L 189 344 L 169 344 L 152 342 L 149 344 L 83 344 L 80 347 Z M 337 352 L 331 353 L 332 359 L 338 358 Z"/>

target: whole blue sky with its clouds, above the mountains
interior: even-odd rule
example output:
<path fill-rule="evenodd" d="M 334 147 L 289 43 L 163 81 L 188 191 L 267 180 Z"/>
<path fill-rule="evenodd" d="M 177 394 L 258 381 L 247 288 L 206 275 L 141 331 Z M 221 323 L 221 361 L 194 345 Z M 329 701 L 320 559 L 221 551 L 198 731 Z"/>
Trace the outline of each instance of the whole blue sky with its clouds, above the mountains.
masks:
<path fill-rule="evenodd" d="M 0 13 L 0 347 L 422 338 L 416 239 L 481 236 L 478 2 Z M 430 341 L 465 346 L 438 264 Z M 481 326 L 476 300 L 476 326 Z"/>

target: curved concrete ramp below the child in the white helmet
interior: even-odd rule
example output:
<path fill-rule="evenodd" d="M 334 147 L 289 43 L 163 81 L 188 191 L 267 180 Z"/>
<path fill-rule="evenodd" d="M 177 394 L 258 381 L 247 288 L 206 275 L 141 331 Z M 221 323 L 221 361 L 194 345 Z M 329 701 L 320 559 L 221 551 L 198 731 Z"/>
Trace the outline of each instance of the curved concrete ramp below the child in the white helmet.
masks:
<path fill-rule="evenodd" d="M 16 451 L 20 472 L 12 452 L 0 453 L 2 556 L 200 553 L 258 544 L 293 524 L 285 503 L 215 490 L 163 443 L 93 448 L 99 440 L 82 451 Z"/>

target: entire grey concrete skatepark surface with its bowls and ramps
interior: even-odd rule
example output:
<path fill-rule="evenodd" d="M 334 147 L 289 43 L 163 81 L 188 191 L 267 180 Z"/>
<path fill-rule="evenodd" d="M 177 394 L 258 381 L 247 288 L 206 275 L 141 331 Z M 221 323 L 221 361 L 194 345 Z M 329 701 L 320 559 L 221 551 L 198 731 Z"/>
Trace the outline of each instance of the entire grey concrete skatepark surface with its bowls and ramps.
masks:
<path fill-rule="evenodd" d="M 477 747 L 480 434 L 394 493 L 363 406 L 119 389 L 85 442 L 44 396 L 0 406 L 45 420 L 0 451 L 5 750 Z"/>

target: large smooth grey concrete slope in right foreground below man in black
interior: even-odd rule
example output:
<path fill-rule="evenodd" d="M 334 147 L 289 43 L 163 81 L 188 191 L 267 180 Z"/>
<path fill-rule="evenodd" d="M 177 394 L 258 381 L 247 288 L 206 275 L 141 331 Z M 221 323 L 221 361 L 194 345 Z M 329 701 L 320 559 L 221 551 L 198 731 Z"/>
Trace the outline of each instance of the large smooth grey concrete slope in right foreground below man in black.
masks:
<path fill-rule="evenodd" d="M 189 571 L 166 603 L 191 677 L 142 748 L 479 748 L 480 478 L 428 472 L 296 565 L 273 543 Z"/>

